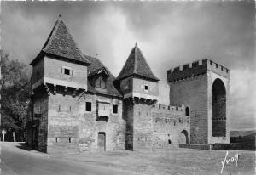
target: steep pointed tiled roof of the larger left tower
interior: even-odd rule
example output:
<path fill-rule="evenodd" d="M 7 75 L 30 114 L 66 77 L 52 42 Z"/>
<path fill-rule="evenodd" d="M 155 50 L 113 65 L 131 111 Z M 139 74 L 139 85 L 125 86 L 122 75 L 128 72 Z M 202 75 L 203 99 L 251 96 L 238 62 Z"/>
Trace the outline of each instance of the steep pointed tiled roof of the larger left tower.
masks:
<path fill-rule="evenodd" d="M 48 39 L 44 43 L 42 51 L 45 54 L 52 54 L 73 62 L 90 64 L 90 61 L 84 57 L 80 49 L 77 47 L 77 44 L 69 33 L 67 26 L 61 19 L 56 21 L 53 30 L 50 32 Z M 34 61 L 36 60 L 34 59 L 31 65 Z"/>

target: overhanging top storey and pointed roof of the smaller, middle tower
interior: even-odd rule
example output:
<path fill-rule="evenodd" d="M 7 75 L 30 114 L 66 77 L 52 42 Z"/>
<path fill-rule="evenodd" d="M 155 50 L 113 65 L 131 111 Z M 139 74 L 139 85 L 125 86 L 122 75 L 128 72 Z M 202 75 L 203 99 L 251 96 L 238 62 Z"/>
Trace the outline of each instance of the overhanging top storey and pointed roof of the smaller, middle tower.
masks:
<path fill-rule="evenodd" d="M 158 81 L 137 44 L 125 62 L 116 82 L 124 98 L 158 100 Z"/>

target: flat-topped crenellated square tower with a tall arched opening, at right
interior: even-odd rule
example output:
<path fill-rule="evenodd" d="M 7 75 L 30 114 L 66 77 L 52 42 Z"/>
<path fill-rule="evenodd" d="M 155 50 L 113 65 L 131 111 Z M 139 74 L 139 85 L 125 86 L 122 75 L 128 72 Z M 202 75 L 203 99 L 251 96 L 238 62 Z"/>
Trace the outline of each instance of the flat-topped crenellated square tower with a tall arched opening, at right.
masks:
<path fill-rule="evenodd" d="M 209 59 L 167 71 L 170 104 L 186 106 L 190 144 L 230 143 L 230 70 Z"/>

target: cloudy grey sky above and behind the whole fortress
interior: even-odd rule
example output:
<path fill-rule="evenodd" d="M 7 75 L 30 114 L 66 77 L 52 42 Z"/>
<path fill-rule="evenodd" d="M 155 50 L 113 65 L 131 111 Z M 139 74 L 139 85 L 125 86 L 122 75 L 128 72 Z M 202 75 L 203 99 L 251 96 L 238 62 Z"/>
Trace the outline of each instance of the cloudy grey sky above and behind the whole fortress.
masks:
<path fill-rule="evenodd" d="M 2 2 L 1 47 L 29 64 L 61 14 L 83 54 L 118 76 L 137 42 L 160 78 L 168 104 L 166 71 L 198 59 L 231 70 L 230 128 L 255 128 L 255 4 L 242 2 Z"/>

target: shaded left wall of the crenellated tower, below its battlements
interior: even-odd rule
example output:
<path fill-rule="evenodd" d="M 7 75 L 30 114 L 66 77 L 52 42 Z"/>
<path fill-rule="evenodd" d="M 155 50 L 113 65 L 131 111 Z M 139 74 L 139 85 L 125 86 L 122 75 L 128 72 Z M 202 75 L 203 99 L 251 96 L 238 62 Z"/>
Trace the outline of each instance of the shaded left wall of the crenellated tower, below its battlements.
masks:
<path fill-rule="evenodd" d="M 169 82 L 170 104 L 189 106 L 190 143 L 207 144 L 208 91 L 207 74 Z"/>

